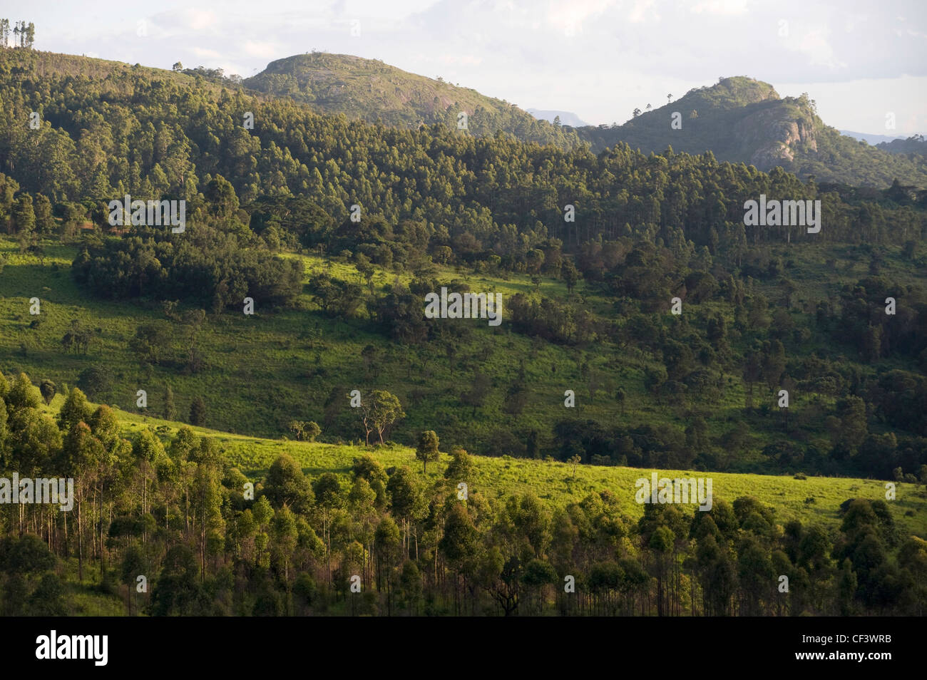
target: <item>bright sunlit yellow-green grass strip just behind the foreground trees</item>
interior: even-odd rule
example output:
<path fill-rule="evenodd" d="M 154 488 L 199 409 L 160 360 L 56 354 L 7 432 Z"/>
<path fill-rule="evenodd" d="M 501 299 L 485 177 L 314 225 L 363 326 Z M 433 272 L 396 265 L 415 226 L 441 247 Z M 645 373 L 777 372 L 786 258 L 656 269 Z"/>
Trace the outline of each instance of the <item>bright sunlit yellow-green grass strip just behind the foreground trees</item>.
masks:
<path fill-rule="evenodd" d="M 58 395 L 47 408 L 57 412 L 63 403 Z M 123 435 L 133 438 L 144 428 L 152 428 L 159 436 L 172 438 L 181 422 L 164 421 L 138 413 L 117 410 L 123 425 Z M 385 447 L 333 445 L 317 442 L 295 442 L 267 439 L 243 434 L 218 432 L 203 427 L 191 427 L 197 436 L 213 437 L 224 451 L 226 460 L 254 481 L 259 481 L 277 456 L 286 453 L 297 460 L 303 472 L 318 477 L 324 472 L 341 476 L 347 488 L 353 461 L 371 454 L 384 468 L 410 466 L 421 473 L 421 463 L 415 460 L 415 450 L 396 444 Z M 445 448 L 442 446 L 442 448 Z M 423 475 L 429 484 L 443 477 L 451 456 L 440 454 L 437 464 L 431 464 Z M 534 494 L 551 508 L 578 502 L 590 493 L 608 491 L 618 499 L 623 513 L 638 519 L 643 505 L 634 499 L 638 479 L 651 479 L 652 472 L 660 477 L 705 477 L 712 480 L 713 499 L 733 502 L 738 497 L 753 496 L 776 510 L 777 522 L 799 520 L 804 524 L 819 523 L 836 530 L 840 525 L 840 504 L 848 498 L 885 498 L 885 483 L 878 480 L 843 477 L 813 477 L 795 479 L 792 476 L 741 474 L 728 472 L 687 472 L 654 468 L 602 467 L 578 465 L 552 460 L 526 460 L 510 457 L 473 457 L 474 475 L 468 483 L 470 494 L 479 494 L 490 501 L 502 501 L 514 495 Z M 927 537 L 927 492 L 923 485 L 899 483 L 896 497 L 888 505 L 902 535 Z M 696 511 L 695 505 L 687 511 Z"/>

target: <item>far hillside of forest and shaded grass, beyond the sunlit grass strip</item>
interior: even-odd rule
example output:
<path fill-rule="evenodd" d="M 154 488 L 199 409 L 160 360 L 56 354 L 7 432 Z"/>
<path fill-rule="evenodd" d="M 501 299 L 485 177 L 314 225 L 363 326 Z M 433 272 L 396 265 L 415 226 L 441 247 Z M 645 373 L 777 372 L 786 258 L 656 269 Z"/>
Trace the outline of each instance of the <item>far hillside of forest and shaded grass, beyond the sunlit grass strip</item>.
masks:
<path fill-rule="evenodd" d="M 440 126 L 368 126 L 145 73 L 6 79 L 19 87 L 3 90 L 10 124 L 0 161 L 12 175 L 0 178 L 0 209 L 23 264 L 43 271 L 38 239 L 81 232 L 71 251 L 78 298 L 153 305 L 145 320 L 133 323 L 130 312 L 128 328 L 107 330 L 79 321 L 87 303 L 78 304 L 55 326 L 8 334 L 23 359 L 78 320 L 118 347 L 109 356 L 125 357 L 132 374 L 178 380 L 187 399 L 215 390 L 220 423 L 260 434 L 323 419 L 327 434 L 354 436 L 338 397 L 353 383 L 400 394 L 413 414 L 400 441 L 430 428 L 425 414 L 439 408 L 446 434 L 481 453 L 883 478 L 927 462 L 917 373 L 927 360 L 924 212 L 908 193 L 828 189 L 711 154 L 645 157 L 621 145 L 593 156 Z M 12 123 L 28 120 L 27 100 L 42 111 L 39 130 Z M 254 130 L 239 122 L 248 111 Z M 30 162 L 40 153 L 57 162 Z M 186 232 L 133 227 L 107 237 L 108 201 L 126 193 L 184 198 Z M 748 233 L 743 203 L 759 195 L 818 199 L 825 226 Z M 293 251 L 321 261 L 307 275 Z M 335 261 L 343 269 L 332 270 Z M 425 320 L 421 301 L 440 285 L 478 292 L 512 276 L 521 283 L 505 292 L 502 327 Z M 28 299 L 34 284 L 16 294 Z M 183 355 L 177 344 L 209 338 L 206 314 L 240 314 L 245 297 L 272 314 L 249 351 L 279 397 L 257 397 L 242 413 L 235 395 L 254 378 L 222 368 L 216 353 L 235 351 L 220 349 L 225 331 L 187 341 Z M 675 297 L 686 312 L 668 313 Z M 275 311 L 286 316 L 273 321 Z M 494 353 L 500 333 L 512 339 Z M 271 338 L 290 353 L 286 380 L 260 371 L 269 360 L 260 343 Z M 558 366 L 572 368 L 557 375 Z M 909 398 L 886 391 L 899 381 Z M 583 412 L 561 406 L 566 389 L 580 393 Z M 791 408 L 803 406 L 791 420 L 775 406 L 779 389 L 793 393 Z M 622 400 L 642 410 L 616 424 Z M 752 422 L 734 427 L 743 406 Z M 506 424 L 481 421 L 477 409 Z M 673 427 L 650 433 L 643 423 L 654 419 Z M 883 438 L 888 429 L 895 439 Z"/>

